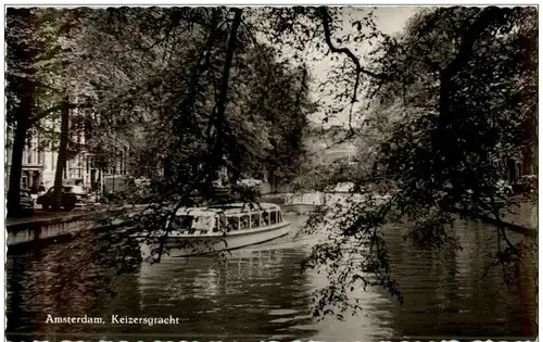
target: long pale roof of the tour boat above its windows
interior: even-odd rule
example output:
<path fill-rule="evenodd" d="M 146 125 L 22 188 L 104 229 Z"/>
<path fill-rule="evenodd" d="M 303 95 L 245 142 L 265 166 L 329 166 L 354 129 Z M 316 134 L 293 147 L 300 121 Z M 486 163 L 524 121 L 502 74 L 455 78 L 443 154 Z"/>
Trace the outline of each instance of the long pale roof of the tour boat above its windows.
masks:
<path fill-rule="evenodd" d="M 217 214 L 239 214 L 261 211 L 280 211 L 275 203 L 227 203 L 200 207 L 180 207 L 177 216 L 215 216 Z"/>

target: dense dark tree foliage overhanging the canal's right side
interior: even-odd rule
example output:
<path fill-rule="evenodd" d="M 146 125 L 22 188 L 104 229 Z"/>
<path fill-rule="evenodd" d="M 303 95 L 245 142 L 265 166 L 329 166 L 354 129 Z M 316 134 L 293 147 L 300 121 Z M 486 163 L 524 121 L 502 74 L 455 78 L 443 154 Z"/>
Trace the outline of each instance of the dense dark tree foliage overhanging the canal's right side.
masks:
<path fill-rule="evenodd" d="M 495 217 L 504 279 L 519 266 L 526 242 L 510 242 L 500 224 L 510 199 L 501 191 L 496 161 L 535 145 L 535 15 L 520 8 L 430 10 L 374 52 L 375 114 L 359 140 L 369 163 L 355 178 L 362 194 L 310 224 L 331 231 L 310 258 L 329 275 L 327 295 L 341 299 L 351 287 L 370 284 L 402 300 L 383 230 L 401 223 L 417 244 L 457 248 L 445 227 L 458 212 Z"/>

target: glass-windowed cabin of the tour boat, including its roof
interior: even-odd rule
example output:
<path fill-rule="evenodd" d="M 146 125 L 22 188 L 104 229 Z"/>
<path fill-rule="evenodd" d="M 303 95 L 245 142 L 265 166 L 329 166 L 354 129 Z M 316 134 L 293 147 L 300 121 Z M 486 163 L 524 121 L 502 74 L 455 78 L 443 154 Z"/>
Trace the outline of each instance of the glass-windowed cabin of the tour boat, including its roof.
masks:
<path fill-rule="evenodd" d="M 277 204 L 233 203 L 179 208 L 169 227 L 182 235 L 199 236 L 274 227 L 282 221 Z"/>

